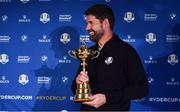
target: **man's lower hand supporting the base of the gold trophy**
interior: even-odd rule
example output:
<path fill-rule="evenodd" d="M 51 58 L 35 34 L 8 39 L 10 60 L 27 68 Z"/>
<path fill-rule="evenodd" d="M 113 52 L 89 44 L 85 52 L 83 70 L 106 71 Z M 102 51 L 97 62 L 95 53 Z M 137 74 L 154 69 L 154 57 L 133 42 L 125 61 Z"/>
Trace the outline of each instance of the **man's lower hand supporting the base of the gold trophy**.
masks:
<path fill-rule="evenodd" d="M 106 103 L 106 96 L 104 94 L 95 94 L 88 98 L 92 101 L 83 102 L 83 104 L 99 108 L 100 106 Z"/>

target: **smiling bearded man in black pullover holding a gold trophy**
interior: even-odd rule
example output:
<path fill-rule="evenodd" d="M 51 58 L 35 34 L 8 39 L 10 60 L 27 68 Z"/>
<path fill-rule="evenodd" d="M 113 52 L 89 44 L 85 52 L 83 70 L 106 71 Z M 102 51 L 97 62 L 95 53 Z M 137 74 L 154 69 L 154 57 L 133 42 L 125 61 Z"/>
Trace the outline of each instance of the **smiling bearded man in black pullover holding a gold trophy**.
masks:
<path fill-rule="evenodd" d="M 83 102 L 83 111 L 129 110 L 130 101 L 148 94 L 148 81 L 140 58 L 133 47 L 113 33 L 114 14 L 110 7 L 97 4 L 85 12 L 86 30 L 96 44 L 98 58 L 87 61 L 87 72 L 78 71 L 72 84 L 89 82 L 92 101 Z"/>

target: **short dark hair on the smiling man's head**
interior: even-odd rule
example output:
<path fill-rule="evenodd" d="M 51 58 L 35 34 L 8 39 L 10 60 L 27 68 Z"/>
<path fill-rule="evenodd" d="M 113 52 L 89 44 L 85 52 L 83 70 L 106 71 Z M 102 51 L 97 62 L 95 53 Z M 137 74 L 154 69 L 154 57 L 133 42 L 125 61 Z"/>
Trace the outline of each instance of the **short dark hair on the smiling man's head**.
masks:
<path fill-rule="evenodd" d="M 85 11 L 85 15 L 94 15 L 101 21 L 107 18 L 109 20 L 111 30 L 114 28 L 114 13 L 112 9 L 105 4 L 96 4 L 91 6 Z"/>

